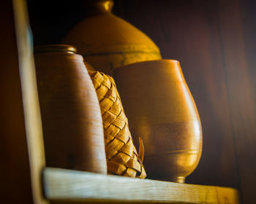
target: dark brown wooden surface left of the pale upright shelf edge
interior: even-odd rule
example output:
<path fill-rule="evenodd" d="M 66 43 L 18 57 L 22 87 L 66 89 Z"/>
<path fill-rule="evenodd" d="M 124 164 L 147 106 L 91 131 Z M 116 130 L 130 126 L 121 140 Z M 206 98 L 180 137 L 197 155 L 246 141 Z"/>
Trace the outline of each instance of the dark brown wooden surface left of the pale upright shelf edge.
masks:
<path fill-rule="evenodd" d="M 15 25 L 12 1 L 1 1 L 0 32 L 0 180 L 1 203 L 30 204 L 31 180 L 29 154 L 26 146 L 26 132 L 21 97 L 18 51 L 15 39 Z"/>

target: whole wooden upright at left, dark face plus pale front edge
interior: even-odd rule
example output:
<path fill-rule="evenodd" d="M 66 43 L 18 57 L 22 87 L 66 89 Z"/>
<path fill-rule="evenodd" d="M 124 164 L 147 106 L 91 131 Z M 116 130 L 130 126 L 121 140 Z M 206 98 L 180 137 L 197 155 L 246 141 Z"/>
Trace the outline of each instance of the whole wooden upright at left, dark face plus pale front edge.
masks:
<path fill-rule="evenodd" d="M 42 135 L 24 3 L 1 1 L 0 7 L 1 203 L 43 203 Z"/>

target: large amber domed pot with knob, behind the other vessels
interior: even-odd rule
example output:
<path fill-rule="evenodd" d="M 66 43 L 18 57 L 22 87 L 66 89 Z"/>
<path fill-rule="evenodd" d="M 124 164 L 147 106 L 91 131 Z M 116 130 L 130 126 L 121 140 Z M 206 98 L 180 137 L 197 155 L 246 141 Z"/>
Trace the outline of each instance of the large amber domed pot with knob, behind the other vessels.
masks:
<path fill-rule="evenodd" d="M 72 28 L 63 41 L 77 47 L 86 62 L 113 75 L 119 66 L 161 59 L 159 48 L 146 34 L 111 13 L 113 1 L 93 2 L 92 15 Z"/>

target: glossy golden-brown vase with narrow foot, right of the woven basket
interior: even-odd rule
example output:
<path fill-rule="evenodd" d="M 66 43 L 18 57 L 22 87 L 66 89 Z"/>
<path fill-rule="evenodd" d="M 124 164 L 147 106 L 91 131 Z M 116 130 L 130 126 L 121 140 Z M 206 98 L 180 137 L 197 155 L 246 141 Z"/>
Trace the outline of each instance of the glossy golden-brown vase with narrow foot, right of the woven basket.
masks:
<path fill-rule="evenodd" d="M 201 156 L 197 107 L 177 60 L 151 60 L 115 70 L 134 141 L 145 146 L 148 178 L 184 183 Z"/>

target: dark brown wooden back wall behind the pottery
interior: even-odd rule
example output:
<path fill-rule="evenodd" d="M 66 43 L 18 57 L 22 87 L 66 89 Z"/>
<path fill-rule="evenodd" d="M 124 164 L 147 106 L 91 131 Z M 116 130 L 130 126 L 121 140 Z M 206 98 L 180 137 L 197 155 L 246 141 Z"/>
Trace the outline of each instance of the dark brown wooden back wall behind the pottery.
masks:
<path fill-rule="evenodd" d="M 86 1 L 28 1 L 34 44 L 59 43 Z M 256 1 L 115 1 L 113 13 L 180 60 L 203 125 L 203 154 L 187 183 L 256 191 Z"/>

